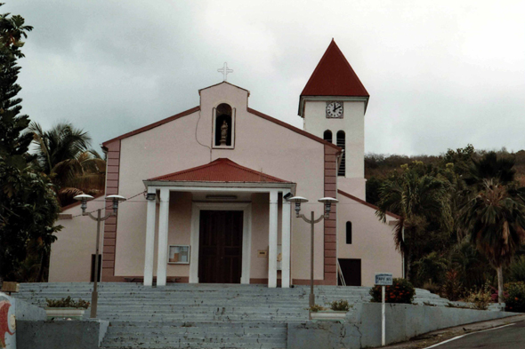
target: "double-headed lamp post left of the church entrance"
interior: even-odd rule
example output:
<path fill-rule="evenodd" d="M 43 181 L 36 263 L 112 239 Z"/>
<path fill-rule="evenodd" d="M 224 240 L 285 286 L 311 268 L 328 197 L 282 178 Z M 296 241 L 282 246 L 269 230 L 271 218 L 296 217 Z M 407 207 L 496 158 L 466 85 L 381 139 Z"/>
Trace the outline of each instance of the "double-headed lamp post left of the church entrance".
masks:
<path fill-rule="evenodd" d="M 87 209 L 87 202 L 90 200 L 93 200 L 92 195 L 88 194 L 81 194 L 74 197 L 75 200 L 82 202 L 80 207 L 82 208 L 82 216 L 89 216 L 89 218 L 92 218 L 93 220 L 96 220 L 97 222 L 97 247 L 95 252 L 95 269 L 94 269 L 94 283 L 93 283 L 93 292 L 91 294 L 91 315 L 90 317 L 92 319 L 97 317 L 97 303 L 99 301 L 99 292 L 97 290 L 98 285 L 98 279 L 99 279 L 99 245 L 101 241 L 101 222 L 108 219 L 111 216 L 117 216 L 117 210 L 118 210 L 118 202 L 125 201 L 124 196 L 120 195 L 109 195 L 106 196 L 106 199 L 110 199 L 113 201 L 113 212 L 108 213 L 106 216 L 101 217 L 101 211 L 102 209 L 97 210 L 96 217 L 91 214 L 91 212 L 86 212 L 85 209 Z"/>

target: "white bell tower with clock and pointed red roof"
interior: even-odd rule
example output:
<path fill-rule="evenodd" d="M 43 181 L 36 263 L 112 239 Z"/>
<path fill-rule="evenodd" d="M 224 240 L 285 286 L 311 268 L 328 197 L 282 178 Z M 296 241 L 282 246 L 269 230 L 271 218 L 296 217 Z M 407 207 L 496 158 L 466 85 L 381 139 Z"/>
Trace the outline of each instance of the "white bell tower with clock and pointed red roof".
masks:
<path fill-rule="evenodd" d="M 344 149 L 337 187 L 365 200 L 365 113 L 369 94 L 334 39 L 299 99 L 303 129 Z"/>

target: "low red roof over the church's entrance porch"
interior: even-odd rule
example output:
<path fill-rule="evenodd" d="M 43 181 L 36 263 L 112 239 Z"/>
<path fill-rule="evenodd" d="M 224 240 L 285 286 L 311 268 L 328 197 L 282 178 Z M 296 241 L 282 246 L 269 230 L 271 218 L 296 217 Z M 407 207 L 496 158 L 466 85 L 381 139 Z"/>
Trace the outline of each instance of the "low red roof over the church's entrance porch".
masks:
<path fill-rule="evenodd" d="M 254 171 L 230 159 L 219 158 L 212 163 L 167 174 L 164 176 L 150 178 L 148 180 L 166 180 L 170 182 L 190 181 L 190 182 L 248 182 L 248 183 L 291 183 L 287 180 L 279 179 L 267 175 L 263 172 Z"/>

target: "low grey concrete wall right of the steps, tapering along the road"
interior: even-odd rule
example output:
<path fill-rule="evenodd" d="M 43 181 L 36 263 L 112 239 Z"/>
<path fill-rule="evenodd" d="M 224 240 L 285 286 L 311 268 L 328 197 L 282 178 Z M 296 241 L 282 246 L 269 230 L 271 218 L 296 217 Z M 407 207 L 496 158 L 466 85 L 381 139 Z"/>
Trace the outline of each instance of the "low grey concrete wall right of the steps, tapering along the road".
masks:
<path fill-rule="evenodd" d="M 444 306 L 388 304 L 386 344 L 402 342 L 437 329 L 488 321 L 516 313 L 448 308 Z M 356 304 L 344 323 L 288 324 L 288 349 L 359 349 L 381 345 L 381 304 Z"/>

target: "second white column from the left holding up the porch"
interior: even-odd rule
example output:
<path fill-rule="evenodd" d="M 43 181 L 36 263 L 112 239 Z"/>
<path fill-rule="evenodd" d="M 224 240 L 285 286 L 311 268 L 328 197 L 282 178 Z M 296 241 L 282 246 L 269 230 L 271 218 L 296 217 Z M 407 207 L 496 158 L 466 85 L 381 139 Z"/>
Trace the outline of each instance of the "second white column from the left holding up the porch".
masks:
<path fill-rule="evenodd" d="M 170 192 L 164 187 L 160 189 L 160 208 L 158 214 L 158 265 L 157 286 L 166 286 L 167 266 L 167 225 L 170 210 Z"/>

